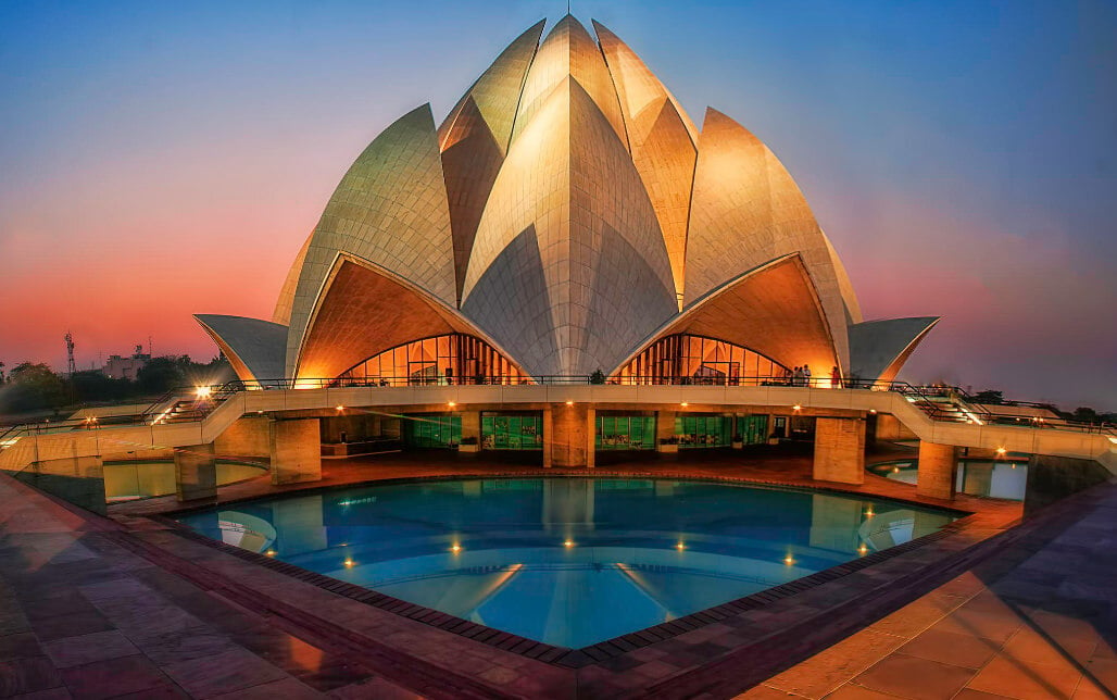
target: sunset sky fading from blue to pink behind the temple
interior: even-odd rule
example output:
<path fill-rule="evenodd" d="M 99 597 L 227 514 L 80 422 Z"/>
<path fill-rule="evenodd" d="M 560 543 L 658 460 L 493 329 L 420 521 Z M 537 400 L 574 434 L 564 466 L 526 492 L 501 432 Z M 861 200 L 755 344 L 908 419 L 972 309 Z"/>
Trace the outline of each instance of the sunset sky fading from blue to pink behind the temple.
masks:
<path fill-rule="evenodd" d="M 573 3 L 781 158 L 901 378 L 1117 409 L 1117 2 Z M 0 0 L 0 361 L 208 359 L 384 126 L 565 3 Z"/>

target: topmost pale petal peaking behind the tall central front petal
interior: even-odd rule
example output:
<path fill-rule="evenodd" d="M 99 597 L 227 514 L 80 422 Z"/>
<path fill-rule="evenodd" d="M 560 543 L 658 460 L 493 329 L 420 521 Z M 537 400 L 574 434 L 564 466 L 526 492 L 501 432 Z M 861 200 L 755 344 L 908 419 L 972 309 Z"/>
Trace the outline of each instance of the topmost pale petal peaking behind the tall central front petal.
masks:
<path fill-rule="evenodd" d="M 555 25 L 535 53 L 524 83 L 524 94 L 519 98 L 513 141 L 524 133 L 551 93 L 558 89 L 566 78 L 574 78 L 585 89 L 627 146 L 624 117 L 621 116 L 621 105 L 609 68 L 590 32 L 570 15 Z"/>

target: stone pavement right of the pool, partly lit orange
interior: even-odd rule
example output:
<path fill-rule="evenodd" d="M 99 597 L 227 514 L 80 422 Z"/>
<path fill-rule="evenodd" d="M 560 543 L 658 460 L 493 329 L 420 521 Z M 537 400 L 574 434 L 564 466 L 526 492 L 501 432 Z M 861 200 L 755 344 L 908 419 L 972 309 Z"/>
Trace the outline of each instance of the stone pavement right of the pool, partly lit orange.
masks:
<path fill-rule="evenodd" d="M 1052 510 L 995 560 L 741 698 L 1114 698 L 1117 484 Z"/>

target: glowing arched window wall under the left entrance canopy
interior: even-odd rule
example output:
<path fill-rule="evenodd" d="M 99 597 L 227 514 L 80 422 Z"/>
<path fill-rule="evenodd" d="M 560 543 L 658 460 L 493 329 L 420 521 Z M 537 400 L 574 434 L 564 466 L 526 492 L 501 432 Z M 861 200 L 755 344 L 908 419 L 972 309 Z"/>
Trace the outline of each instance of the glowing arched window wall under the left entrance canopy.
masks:
<path fill-rule="evenodd" d="M 450 333 L 384 350 L 342 372 L 334 386 L 427 384 L 531 384 L 531 378 L 480 338 Z"/>

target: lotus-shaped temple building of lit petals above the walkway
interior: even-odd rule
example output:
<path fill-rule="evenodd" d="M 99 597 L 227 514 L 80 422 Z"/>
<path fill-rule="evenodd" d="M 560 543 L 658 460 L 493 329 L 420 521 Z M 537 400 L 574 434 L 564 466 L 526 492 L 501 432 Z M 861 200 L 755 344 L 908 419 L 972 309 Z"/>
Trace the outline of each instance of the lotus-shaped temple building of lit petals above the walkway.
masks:
<path fill-rule="evenodd" d="M 543 28 L 440 125 L 423 105 L 369 144 L 270 321 L 198 316 L 241 379 L 895 378 L 937 319 L 862 320 L 764 143 L 712 108 L 699 129 L 596 22 Z"/>

